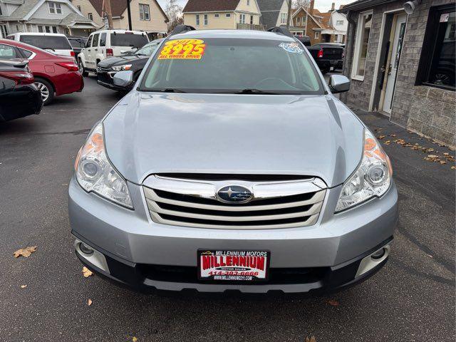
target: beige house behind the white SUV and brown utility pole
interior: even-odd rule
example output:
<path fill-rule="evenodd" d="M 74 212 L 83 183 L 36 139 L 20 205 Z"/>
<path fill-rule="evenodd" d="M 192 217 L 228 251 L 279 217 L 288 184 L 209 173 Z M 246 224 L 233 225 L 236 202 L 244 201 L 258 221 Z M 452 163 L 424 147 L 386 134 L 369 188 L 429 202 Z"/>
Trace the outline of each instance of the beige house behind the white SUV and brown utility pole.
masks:
<path fill-rule="evenodd" d="M 103 0 L 73 0 L 73 5 L 98 26 L 107 27 Z M 110 0 L 113 28 L 126 29 L 128 9 L 126 0 Z M 145 31 L 150 38 L 156 33 L 167 33 L 168 18 L 157 0 L 130 0 L 131 29 Z"/>

